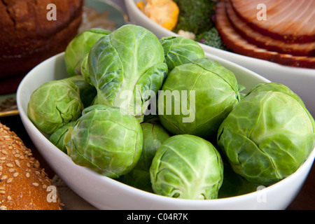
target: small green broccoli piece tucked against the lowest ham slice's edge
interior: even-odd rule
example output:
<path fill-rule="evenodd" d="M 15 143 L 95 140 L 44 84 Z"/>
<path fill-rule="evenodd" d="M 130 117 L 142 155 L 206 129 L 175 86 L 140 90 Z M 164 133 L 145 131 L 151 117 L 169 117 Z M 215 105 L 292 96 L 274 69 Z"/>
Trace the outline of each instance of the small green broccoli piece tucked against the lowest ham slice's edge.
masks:
<path fill-rule="evenodd" d="M 221 36 L 218 33 L 216 27 L 212 27 L 209 31 L 206 31 L 196 37 L 196 41 L 210 45 L 214 48 L 219 48 L 221 50 L 229 50 L 226 45 L 221 40 Z"/>

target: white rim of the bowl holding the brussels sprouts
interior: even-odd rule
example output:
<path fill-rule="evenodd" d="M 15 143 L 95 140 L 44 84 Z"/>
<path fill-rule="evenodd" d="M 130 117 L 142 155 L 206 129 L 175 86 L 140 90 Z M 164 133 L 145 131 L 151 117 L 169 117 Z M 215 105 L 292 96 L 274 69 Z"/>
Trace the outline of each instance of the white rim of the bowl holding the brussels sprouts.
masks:
<path fill-rule="evenodd" d="M 278 181 L 271 186 L 267 186 L 266 188 L 263 188 L 261 190 L 256 190 L 256 191 L 251 192 L 251 193 L 246 193 L 244 195 L 237 195 L 237 196 L 232 196 L 232 197 L 217 198 L 217 199 L 213 199 L 213 200 L 188 200 L 188 199 L 173 198 L 173 197 L 167 197 L 167 196 L 158 195 L 155 193 L 146 192 L 144 190 L 134 188 L 132 186 L 128 186 L 125 183 L 121 183 L 120 181 L 117 181 L 115 179 L 111 179 L 107 176 L 103 176 L 102 174 L 98 174 L 97 172 L 94 172 L 94 171 L 92 171 L 92 169 L 89 169 L 87 167 L 82 167 L 80 165 L 76 165 L 71 160 L 71 158 L 68 155 L 66 155 L 66 153 L 63 153 L 62 151 L 60 151 L 55 145 L 53 145 L 49 141 L 49 139 L 47 137 L 45 137 L 45 135 L 42 132 L 40 132 L 35 127 L 35 125 L 33 123 L 31 123 L 31 120 L 29 120 L 29 118 L 27 117 L 27 111 L 25 111 L 23 109 L 23 106 L 22 106 L 22 90 L 25 87 L 25 82 L 28 79 L 33 78 L 33 76 L 36 76 L 36 70 L 40 69 L 41 67 L 45 66 L 48 63 L 54 62 L 59 57 L 64 57 L 64 52 L 61 52 L 55 56 L 52 56 L 48 59 L 45 59 L 45 61 L 41 62 L 41 64 L 38 64 L 37 66 L 34 67 L 34 69 L 31 69 L 31 71 L 29 71 L 29 73 L 27 73 L 25 78 L 22 79 L 22 81 L 18 87 L 18 91 L 17 91 L 17 105 L 18 105 L 18 109 L 20 111 L 20 117 L 22 119 L 23 125 L 26 125 L 29 128 L 31 128 L 32 132 L 34 132 L 34 134 L 36 134 L 37 137 L 43 138 L 43 141 L 45 141 L 45 144 L 49 146 L 48 151 L 52 150 L 53 151 L 52 153 L 57 153 L 57 156 L 59 158 L 62 158 L 62 160 L 67 160 L 67 161 L 71 162 L 71 166 L 78 167 L 78 169 L 80 171 L 83 171 L 83 172 L 89 174 L 89 176 L 92 176 L 92 178 L 97 179 L 98 182 L 101 181 L 102 183 L 113 184 L 113 186 L 115 186 L 116 188 L 126 190 L 126 193 L 131 193 L 133 195 L 139 195 L 139 197 L 147 197 L 147 200 L 158 200 L 158 201 L 163 202 L 163 203 L 171 203 L 171 202 L 174 204 L 180 203 L 181 206 L 185 206 L 186 204 L 190 205 L 190 206 L 191 205 L 193 205 L 193 206 L 194 205 L 200 205 L 200 204 L 202 204 L 202 205 L 218 205 L 218 204 L 223 204 L 223 203 L 225 204 L 225 203 L 230 203 L 230 202 L 237 202 L 239 200 L 246 200 L 246 198 L 250 199 L 251 197 L 258 197 L 261 193 L 267 194 L 270 190 L 275 189 L 275 188 L 280 188 L 281 186 L 283 186 L 283 184 L 290 182 L 291 180 L 295 179 L 296 176 L 300 175 L 303 172 L 307 172 L 307 175 L 308 175 L 309 171 L 307 171 L 305 169 L 307 169 L 307 167 L 311 167 L 313 162 L 314 162 L 315 147 L 313 148 L 311 153 L 309 153 L 308 158 L 302 163 L 302 165 L 300 165 L 300 167 L 293 174 L 290 174 L 285 179 L 282 179 L 281 181 Z M 218 58 L 220 58 L 220 57 L 218 57 Z M 239 66 L 241 69 L 246 69 L 243 66 L 235 64 L 234 62 L 230 62 L 226 59 L 223 59 L 223 60 L 227 61 L 228 63 L 231 63 L 232 65 Z M 246 70 L 248 70 L 248 69 L 246 69 Z M 251 70 L 248 70 L 248 71 L 251 71 Z M 257 76 L 260 76 L 260 75 L 257 74 Z M 262 76 L 260 76 L 260 77 L 262 77 Z M 29 132 L 29 131 L 27 130 L 27 132 Z M 40 151 L 40 153 L 43 153 L 43 151 L 41 151 L 41 149 L 38 149 L 38 151 Z M 48 163 L 50 163 L 50 162 L 51 161 L 48 161 Z M 305 179 L 306 178 L 307 178 L 307 176 L 305 176 Z"/>

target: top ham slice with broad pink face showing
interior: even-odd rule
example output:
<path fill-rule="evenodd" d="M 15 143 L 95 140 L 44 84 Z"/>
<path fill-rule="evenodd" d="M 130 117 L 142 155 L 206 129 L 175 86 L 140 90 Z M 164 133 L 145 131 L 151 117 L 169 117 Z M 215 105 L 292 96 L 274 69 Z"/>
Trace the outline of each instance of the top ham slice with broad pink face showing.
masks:
<path fill-rule="evenodd" d="M 315 0 L 231 0 L 235 12 L 252 29 L 287 43 L 315 41 Z M 267 20 L 258 20 L 265 4 Z"/>

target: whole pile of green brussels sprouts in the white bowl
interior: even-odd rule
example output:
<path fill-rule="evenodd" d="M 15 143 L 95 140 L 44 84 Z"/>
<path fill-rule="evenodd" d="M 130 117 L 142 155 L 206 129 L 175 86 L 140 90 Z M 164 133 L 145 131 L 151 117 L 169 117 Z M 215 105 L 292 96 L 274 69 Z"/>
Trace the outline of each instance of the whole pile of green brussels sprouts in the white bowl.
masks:
<path fill-rule="evenodd" d="M 293 174 L 314 148 L 304 103 L 279 83 L 247 94 L 195 41 L 125 25 L 65 51 L 69 78 L 38 87 L 27 113 L 73 162 L 151 193 L 208 200 Z"/>

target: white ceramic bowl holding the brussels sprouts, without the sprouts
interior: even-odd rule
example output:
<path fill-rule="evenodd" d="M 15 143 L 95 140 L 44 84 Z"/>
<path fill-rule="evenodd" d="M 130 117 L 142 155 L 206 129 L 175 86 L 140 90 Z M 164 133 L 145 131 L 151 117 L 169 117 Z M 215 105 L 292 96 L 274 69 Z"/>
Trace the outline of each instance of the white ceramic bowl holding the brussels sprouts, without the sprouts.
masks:
<path fill-rule="evenodd" d="M 233 71 L 239 83 L 245 85 L 247 90 L 257 83 L 269 82 L 237 64 L 214 55 L 207 56 Z M 311 169 L 315 150 L 297 172 L 279 183 L 247 195 L 218 200 L 181 200 L 132 188 L 74 164 L 68 155 L 51 144 L 27 118 L 27 104 L 31 93 L 47 81 L 66 77 L 64 53 L 45 60 L 20 83 L 17 92 L 18 109 L 29 137 L 50 167 L 74 192 L 98 209 L 286 209 Z"/>

